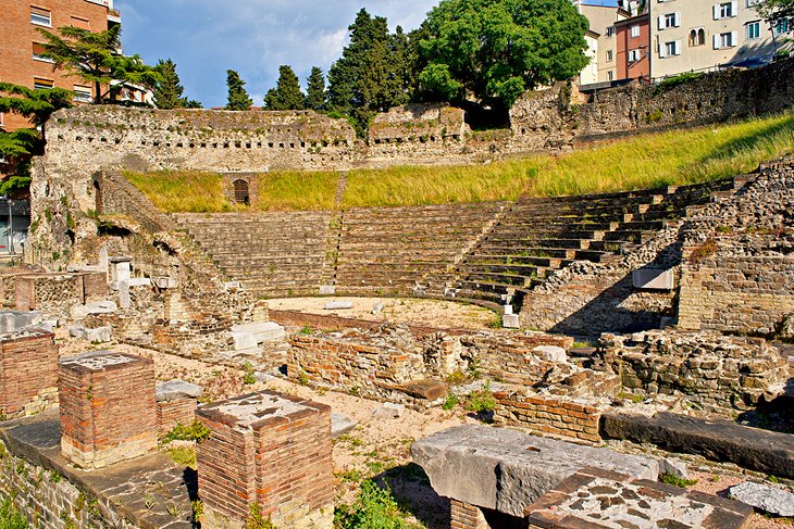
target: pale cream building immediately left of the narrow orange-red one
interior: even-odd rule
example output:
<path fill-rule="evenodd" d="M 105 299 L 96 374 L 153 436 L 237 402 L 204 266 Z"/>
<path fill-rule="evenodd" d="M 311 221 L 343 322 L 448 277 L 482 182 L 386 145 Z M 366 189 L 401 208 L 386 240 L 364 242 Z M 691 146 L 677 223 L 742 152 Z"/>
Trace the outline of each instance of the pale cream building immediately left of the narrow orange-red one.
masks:
<path fill-rule="evenodd" d="M 615 23 L 626 18 L 626 11 L 613 5 L 588 5 L 581 0 L 574 0 L 579 12 L 590 21 L 590 33 L 585 35 L 588 56 L 595 58 L 595 65 L 591 63 L 581 75 L 581 84 L 608 83 L 618 78 L 617 46 L 615 38 Z"/>

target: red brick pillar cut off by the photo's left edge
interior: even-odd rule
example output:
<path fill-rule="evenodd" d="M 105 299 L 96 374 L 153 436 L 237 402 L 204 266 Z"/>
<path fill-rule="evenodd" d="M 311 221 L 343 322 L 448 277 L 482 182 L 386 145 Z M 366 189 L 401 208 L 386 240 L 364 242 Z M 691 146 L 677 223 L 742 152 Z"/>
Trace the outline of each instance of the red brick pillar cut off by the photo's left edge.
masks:
<path fill-rule="evenodd" d="M 58 345 L 52 332 L 0 336 L 0 413 L 30 415 L 58 402 Z"/>

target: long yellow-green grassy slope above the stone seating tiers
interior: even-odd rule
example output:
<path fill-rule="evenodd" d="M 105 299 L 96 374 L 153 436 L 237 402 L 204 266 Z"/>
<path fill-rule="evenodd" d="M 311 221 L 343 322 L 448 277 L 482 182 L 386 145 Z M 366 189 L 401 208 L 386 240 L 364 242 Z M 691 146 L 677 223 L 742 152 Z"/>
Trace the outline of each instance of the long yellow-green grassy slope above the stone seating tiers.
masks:
<path fill-rule="evenodd" d="M 794 113 L 730 125 L 597 144 L 560 156 L 538 155 L 472 166 L 401 166 L 348 174 L 345 207 L 418 205 L 581 194 L 694 184 L 752 171 L 794 153 Z M 207 173 L 127 173 L 166 212 L 239 210 L 223 197 L 221 177 Z M 281 172 L 259 176 L 259 211 L 333 206 L 337 175 Z"/>

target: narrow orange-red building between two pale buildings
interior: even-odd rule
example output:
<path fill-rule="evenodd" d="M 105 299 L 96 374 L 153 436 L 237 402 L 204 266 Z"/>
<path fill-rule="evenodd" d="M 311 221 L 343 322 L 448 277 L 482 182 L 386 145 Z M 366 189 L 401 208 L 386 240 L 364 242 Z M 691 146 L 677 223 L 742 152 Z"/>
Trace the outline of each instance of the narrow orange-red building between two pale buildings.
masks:
<path fill-rule="evenodd" d="M 620 79 L 650 77 L 650 15 L 647 13 L 615 23 L 618 76 Z"/>

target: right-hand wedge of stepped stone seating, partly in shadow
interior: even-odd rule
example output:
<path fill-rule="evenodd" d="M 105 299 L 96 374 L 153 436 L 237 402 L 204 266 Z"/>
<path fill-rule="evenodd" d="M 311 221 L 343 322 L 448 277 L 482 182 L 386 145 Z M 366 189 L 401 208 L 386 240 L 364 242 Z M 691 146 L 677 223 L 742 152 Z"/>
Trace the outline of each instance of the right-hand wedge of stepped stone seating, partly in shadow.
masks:
<path fill-rule="evenodd" d="M 608 263 L 650 240 L 687 209 L 746 179 L 551 199 L 522 198 L 457 265 L 426 278 L 426 292 L 486 305 L 521 305 L 530 290 L 576 261 Z"/>

